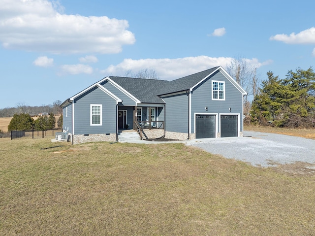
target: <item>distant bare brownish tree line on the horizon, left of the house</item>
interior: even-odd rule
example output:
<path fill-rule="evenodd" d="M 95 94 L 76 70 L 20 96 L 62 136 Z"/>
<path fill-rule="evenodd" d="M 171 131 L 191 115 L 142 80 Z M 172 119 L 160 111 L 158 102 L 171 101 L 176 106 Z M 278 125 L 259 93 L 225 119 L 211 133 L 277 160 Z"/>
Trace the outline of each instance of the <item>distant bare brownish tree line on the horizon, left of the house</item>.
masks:
<path fill-rule="evenodd" d="M 37 116 L 39 113 L 46 112 L 47 114 L 54 113 L 61 115 L 63 109 L 60 107 L 62 101 L 56 100 L 53 104 L 41 105 L 41 106 L 29 106 L 24 102 L 17 103 L 16 107 L 5 107 L 0 109 L 0 117 L 13 117 L 14 114 L 30 114 L 31 116 Z"/>

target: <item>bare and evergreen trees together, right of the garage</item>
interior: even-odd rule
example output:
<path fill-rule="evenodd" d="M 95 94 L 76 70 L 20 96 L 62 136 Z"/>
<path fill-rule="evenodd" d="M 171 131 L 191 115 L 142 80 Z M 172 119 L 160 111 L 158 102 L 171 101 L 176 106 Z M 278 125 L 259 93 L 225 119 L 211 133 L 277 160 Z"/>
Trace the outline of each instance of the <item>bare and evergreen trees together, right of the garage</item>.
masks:
<path fill-rule="evenodd" d="M 244 123 L 286 128 L 315 127 L 315 72 L 298 67 L 288 70 L 284 78 L 267 72 L 261 82 L 257 67 L 243 57 L 236 57 L 226 67 L 227 72 L 242 86 Z"/>

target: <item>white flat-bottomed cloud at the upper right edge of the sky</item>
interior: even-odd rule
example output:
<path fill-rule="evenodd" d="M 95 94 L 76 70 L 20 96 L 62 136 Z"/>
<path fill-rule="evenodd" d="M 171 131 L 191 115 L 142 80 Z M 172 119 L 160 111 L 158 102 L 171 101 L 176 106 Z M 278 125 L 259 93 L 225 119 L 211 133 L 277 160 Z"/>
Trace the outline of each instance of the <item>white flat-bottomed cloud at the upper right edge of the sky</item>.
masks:
<path fill-rule="evenodd" d="M 315 44 L 315 27 L 301 31 L 298 34 L 276 34 L 270 40 L 282 41 L 288 44 Z"/>

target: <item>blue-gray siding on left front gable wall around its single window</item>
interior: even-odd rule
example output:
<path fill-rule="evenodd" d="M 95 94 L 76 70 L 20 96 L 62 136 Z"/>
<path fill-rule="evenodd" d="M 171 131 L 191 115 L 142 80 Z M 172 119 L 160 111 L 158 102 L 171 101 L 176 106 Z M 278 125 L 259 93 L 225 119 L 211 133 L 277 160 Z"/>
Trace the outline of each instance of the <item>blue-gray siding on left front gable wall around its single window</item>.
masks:
<path fill-rule="evenodd" d="M 102 104 L 102 125 L 91 126 L 91 104 Z M 74 100 L 74 135 L 116 134 L 116 100 L 95 87 Z"/>

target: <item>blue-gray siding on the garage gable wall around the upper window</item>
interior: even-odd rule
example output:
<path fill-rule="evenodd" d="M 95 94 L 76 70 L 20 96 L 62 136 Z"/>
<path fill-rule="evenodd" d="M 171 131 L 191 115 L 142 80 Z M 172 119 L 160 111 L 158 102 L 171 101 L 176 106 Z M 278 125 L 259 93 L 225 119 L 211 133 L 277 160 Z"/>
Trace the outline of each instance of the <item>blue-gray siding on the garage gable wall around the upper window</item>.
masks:
<path fill-rule="evenodd" d="M 225 101 L 212 100 L 212 80 L 225 82 Z M 194 113 L 240 113 L 241 127 L 243 131 L 243 95 L 242 93 L 220 72 L 205 80 L 196 87 L 191 94 L 191 132 L 194 131 Z M 205 107 L 208 107 L 206 111 Z M 231 112 L 229 111 L 231 107 Z M 219 117 L 220 119 L 220 117 Z"/>

